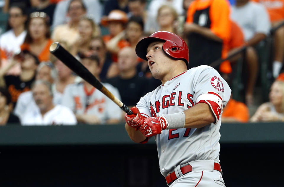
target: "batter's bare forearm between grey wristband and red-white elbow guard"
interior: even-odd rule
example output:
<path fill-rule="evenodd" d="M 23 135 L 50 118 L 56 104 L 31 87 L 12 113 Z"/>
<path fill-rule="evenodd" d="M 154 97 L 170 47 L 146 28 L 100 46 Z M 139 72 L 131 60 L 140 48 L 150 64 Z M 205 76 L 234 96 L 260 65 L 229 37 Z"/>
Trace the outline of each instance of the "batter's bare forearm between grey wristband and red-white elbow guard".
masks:
<path fill-rule="evenodd" d="M 183 111 L 185 113 L 184 128 L 201 128 L 215 122 L 215 117 L 208 104 L 199 103 Z"/>

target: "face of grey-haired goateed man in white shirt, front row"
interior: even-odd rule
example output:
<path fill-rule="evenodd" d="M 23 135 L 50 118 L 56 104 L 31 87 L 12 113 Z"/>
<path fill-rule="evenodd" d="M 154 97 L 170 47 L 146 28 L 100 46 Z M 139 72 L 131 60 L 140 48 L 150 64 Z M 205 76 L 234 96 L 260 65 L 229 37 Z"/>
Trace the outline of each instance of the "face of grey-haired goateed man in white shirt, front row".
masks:
<path fill-rule="evenodd" d="M 52 96 L 49 88 L 44 84 L 38 84 L 33 87 L 33 99 L 41 111 L 46 110 L 52 104 Z"/>

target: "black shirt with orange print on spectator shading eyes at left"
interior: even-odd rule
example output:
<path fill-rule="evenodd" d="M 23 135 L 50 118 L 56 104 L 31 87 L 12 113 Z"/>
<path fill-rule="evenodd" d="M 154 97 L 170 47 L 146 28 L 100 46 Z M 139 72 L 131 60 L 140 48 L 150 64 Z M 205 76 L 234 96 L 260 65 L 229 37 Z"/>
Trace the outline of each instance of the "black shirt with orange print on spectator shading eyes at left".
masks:
<path fill-rule="evenodd" d="M 35 76 L 26 82 L 20 79 L 20 76 L 6 75 L 4 76 L 6 87 L 11 94 L 12 103 L 15 106 L 19 95 L 25 91 L 30 91 L 30 87 L 35 81 Z"/>

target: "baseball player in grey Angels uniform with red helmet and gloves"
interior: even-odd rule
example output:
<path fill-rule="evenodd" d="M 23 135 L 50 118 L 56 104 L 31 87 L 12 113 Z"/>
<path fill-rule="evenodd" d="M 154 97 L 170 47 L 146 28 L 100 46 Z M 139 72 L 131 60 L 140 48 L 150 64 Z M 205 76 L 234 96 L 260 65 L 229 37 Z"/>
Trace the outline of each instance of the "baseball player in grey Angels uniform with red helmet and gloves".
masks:
<path fill-rule="evenodd" d="M 212 67 L 188 70 L 188 46 L 179 36 L 158 31 L 136 46 L 162 85 L 125 114 L 126 131 L 137 143 L 156 140 L 160 172 L 171 187 L 225 186 L 220 167 L 222 109 L 231 90 Z M 206 54 L 205 54 L 206 55 Z"/>

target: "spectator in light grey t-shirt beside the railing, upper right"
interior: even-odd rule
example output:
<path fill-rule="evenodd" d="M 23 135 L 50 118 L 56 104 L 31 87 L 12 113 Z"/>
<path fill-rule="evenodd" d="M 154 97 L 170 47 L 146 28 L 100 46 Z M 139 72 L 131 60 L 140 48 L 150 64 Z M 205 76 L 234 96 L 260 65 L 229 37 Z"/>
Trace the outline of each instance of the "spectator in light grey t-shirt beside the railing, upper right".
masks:
<path fill-rule="evenodd" d="M 251 105 L 253 101 L 254 86 L 258 72 L 258 56 L 255 46 L 262 41 L 270 31 L 270 21 L 265 8 L 258 3 L 249 0 L 237 0 L 232 6 L 231 19 L 243 30 L 246 46 L 246 61 L 250 80 L 246 86 L 246 104 Z"/>

